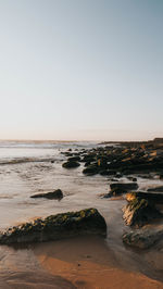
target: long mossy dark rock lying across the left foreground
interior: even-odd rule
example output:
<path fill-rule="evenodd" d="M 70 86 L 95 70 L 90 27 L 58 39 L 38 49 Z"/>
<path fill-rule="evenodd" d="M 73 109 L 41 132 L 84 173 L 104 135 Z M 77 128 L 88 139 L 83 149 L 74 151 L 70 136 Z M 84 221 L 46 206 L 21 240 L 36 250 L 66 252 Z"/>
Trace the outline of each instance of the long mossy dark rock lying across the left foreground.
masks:
<path fill-rule="evenodd" d="M 80 235 L 106 236 L 105 221 L 97 209 L 51 215 L 7 229 L 0 234 L 0 243 L 43 242 Z"/>

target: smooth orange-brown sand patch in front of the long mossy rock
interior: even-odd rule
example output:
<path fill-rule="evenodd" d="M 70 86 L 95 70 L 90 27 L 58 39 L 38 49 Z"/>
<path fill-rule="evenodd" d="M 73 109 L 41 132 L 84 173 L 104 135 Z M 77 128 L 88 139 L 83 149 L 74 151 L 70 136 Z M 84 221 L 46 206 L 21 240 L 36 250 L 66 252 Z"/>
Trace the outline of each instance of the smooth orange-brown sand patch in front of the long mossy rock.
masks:
<path fill-rule="evenodd" d="M 41 243 L 34 248 L 34 252 L 48 273 L 71 281 L 74 288 L 163 288 L 158 280 L 117 267 L 112 251 L 98 237 Z"/>

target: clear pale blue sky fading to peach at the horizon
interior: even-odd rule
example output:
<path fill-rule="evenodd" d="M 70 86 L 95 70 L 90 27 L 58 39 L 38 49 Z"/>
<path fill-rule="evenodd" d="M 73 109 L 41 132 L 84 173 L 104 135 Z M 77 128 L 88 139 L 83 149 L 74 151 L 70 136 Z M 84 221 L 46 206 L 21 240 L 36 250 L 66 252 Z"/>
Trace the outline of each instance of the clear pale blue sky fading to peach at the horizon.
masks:
<path fill-rule="evenodd" d="M 163 137 L 162 0 L 0 0 L 0 139 Z"/>

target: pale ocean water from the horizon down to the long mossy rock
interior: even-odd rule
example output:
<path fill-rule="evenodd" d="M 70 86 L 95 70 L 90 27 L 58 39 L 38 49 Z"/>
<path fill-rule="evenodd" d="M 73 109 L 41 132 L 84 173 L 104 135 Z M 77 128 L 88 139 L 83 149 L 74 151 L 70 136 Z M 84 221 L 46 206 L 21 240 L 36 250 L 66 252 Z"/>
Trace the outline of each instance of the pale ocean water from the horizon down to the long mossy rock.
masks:
<path fill-rule="evenodd" d="M 0 228 L 37 216 L 92 206 L 91 201 L 85 201 L 85 191 L 90 196 L 101 192 L 103 178 L 86 178 L 82 174 L 83 165 L 75 169 L 63 168 L 66 158 L 62 152 L 97 146 L 91 142 L 0 142 Z M 60 202 L 30 198 L 58 188 L 64 193 Z"/>

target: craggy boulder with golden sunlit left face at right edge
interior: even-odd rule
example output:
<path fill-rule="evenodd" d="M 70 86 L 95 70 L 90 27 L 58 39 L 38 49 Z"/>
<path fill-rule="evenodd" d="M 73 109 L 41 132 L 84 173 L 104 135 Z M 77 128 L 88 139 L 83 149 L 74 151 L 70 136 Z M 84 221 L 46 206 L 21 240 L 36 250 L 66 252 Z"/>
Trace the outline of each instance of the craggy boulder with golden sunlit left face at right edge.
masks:
<path fill-rule="evenodd" d="M 139 198 L 136 193 L 127 196 L 128 204 L 123 209 L 123 218 L 127 226 L 141 227 L 154 218 L 161 218 L 163 215 L 155 208 L 153 202 L 148 199 Z"/>

